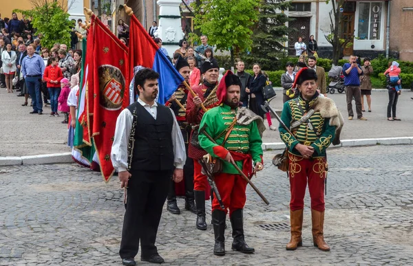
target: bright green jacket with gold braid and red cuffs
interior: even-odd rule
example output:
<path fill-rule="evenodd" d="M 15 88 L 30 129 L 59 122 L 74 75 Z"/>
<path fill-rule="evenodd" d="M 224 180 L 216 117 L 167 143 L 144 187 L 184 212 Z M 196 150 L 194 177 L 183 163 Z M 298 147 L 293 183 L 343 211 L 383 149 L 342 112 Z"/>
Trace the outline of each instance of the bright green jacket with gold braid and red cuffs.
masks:
<path fill-rule="evenodd" d="M 224 148 L 220 146 L 224 142 L 225 134 L 221 134 L 227 129 L 235 118 L 235 112 L 226 104 L 220 104 L 204 114 L 201 120 L 200 129 L 205 131 L 218 143 L 213 144 L 204 134 L 200 132 L 198 139 L 200 146 L 213 157 L 224 158 L 228 151 L 250 154 L 253 163 L 262 162 L 262 139 L 255 121 L 248 125 L 235 124 L 233 130 L 227 138 Z M 221 135 L 218 137 L 218 135 Z M 218 137 L 218 139 L 216 138 Z M 242 169 L 242 162 L 235 161 Z M 229 162 L 222 162 L 222 173 L 239 174 Z"/>

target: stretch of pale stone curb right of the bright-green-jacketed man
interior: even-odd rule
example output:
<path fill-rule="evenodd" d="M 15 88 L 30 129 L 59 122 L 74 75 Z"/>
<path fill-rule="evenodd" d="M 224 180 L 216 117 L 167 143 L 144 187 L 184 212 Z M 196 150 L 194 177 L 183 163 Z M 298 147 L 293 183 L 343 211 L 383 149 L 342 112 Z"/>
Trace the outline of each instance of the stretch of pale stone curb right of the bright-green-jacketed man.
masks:
<path fill-rule="evenodd" d="M 341 143 L 330 148 L 351 147 L 351 146 L 374 146 L 374 145 L 401 145 L 413 144 L 413 137 L 383 137 L 377 139 L 341 140 Z M 284 142 L 263 143 L 263 151 L 284 150 Z"/>

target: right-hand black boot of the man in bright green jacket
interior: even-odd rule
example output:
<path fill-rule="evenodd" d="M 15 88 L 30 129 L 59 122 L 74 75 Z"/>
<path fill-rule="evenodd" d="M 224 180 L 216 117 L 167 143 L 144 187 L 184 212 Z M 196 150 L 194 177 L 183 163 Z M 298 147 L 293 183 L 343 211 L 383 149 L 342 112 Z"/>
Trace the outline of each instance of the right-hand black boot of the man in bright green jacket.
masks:
<path fill-rule="evenodd" d="M 253 247 L 248 247 L 244 240 L 244 219 L 242 215 L 242 209 L 234 210 L 231 214 L 231 227 L 233 229 L 233 244 L 232 250 L 236 250 L 242 253 L 251 254 L 255 250 Z"/>

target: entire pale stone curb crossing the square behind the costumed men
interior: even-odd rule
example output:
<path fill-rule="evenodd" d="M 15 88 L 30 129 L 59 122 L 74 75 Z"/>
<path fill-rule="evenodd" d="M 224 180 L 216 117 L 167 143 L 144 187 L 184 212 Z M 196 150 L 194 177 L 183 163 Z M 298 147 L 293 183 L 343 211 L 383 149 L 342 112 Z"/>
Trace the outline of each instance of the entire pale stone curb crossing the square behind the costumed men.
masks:
<path fill-rule="evenodd" d="M 330 148 L 374 145 L 401 145 L 413 144 L 413 137 L 383 137 L 377 139 L 341 140 L 339 145 L 330 145 Z M 263 151 L 284 150 L 283 142 L 268 142 L 262 144 Z M 53 153 L 21 157 L 0 157 L 0 166 L 15 166 L 22 164 L 68 164 L 72 163 L 72 153 Z"/>

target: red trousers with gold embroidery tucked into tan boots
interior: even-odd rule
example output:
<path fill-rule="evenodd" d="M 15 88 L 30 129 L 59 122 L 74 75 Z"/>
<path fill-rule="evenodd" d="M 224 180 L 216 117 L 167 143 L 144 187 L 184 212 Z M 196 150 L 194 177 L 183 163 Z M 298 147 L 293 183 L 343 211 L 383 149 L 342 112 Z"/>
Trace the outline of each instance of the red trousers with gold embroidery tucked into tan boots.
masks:
<path fill-rule="evenodd" d="M 290 177 L 290 210 L 304 208 L 306 187 L 310 191 L 311 209 L 324 212 L 324 179 L 326 178 L 326 158 L 304 159 L 288 153 L 288 175 Z"/>

